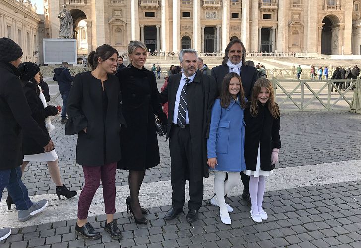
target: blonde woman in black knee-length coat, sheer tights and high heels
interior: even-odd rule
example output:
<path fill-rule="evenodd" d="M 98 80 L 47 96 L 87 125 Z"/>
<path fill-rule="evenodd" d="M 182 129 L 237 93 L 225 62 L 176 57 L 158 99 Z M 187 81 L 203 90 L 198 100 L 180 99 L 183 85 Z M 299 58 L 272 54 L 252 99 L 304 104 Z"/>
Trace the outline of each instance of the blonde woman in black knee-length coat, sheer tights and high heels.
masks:
<path fill-rule="evenodd" d="M 140 41 L 128 45 L 131 67 L 117 72 L 122 92 L 122 106 L 127 129 L 121 131 L 121 160 L 118 169 L 129 170 L 130 196 L 126 205 L 136 223 L 146 224 L 147 213 L 139 203 L 139 190 L 145 170 L 160 163 L 154 115 L 167 124 L 167 116 L 159 100 L 157 82 L 152 71 L 144 68 L 147 48 Z"/>

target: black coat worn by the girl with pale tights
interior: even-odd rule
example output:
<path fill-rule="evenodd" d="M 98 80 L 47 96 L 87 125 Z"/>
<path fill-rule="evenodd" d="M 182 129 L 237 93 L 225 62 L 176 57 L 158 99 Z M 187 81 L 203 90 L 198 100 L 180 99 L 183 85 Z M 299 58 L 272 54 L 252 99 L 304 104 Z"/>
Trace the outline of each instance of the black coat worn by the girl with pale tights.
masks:
<path fill-rule="evenodd" d="M 268 110 L 268 104 L 264 106 L 258 103 L 259 111 L 256 117 L 249 112 L 250 103 L 244 111 L 246 123 L 244 136 L 244 158 L 247 170 L 255 171 L 257 164 L 258 146 L 261 149 L 261 170 L 271 171 L 275 165 L 271 165 L 271 153 L 273 148 L 281 148 L 280 118 L 275 119 Z M 278 105 L 277 105 L 278 107 Z"/>

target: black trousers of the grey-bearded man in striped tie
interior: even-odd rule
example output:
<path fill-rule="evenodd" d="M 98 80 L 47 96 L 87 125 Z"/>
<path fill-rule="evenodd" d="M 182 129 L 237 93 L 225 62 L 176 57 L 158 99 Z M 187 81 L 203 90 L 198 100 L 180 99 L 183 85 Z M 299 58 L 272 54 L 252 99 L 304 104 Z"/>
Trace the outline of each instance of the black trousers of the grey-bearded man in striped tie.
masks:
<path fill-rule="evenodd" d="M 172 207 L 183 208 L 185 203 L 185 180 L 189 177 L 188 208 L 199 210 L 203 200 L 203 178 L 194 179 L 190 174 L 192 164 L 192 145 L 189 125 L 180 128 L 172 124 L 169 135 L 171 155 Z M 197 165 L 202 166 L 202 165 Z"/>

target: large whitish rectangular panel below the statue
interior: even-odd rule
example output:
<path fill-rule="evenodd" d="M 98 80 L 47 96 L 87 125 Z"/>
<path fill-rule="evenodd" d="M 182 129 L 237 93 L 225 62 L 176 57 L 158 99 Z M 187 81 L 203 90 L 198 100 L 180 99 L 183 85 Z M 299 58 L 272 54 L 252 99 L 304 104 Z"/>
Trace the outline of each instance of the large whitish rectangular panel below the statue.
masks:
<path fill-rule="evenodd" d="M 76 39 L 43 39 L 45 64 L 77 64 Z"/>

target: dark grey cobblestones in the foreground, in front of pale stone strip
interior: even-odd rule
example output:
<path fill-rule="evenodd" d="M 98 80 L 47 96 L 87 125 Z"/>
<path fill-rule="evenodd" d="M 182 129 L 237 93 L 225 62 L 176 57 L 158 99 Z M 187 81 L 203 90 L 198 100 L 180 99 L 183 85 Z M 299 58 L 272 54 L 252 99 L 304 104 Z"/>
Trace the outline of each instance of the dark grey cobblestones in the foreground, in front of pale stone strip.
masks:
<path fill-rule="evenodd" d="M 265 193 L 263 207 L 267 221 L 254 223 L 250 205 L 238 196 L 230 197 L 234 211 L 231 225 L 219 218 L 219 208 L 203 202 L 199 220 L 190 224 L 185 215 L 163 219 L 170 206 L 149 209 L 147 225 L 134 223 L 129 215 L 117 213 L 123 233 L 114 241 L 103 229 L 105 215 L 89 221 L 102 239 L 88 241 L 74 233 L 76 220 L 60 221 L 21 229 L 0 242 L 1 248 L 213 248 L 213 247 L 361 247 L 361 181 L 308 186 Z M 187 213 L 187 209 L 184 209 Z"/>

